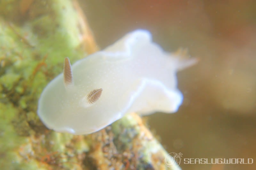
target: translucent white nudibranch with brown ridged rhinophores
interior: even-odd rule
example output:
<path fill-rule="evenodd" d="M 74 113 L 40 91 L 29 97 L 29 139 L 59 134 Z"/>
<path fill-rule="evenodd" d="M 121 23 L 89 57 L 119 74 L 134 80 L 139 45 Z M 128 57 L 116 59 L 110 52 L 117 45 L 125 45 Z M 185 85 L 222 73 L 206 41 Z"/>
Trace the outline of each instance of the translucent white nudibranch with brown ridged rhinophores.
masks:
<path fill-rule="evenodd" d="M 182 103 L 176 72 L 196 63 L 166 53 L 146 30 L 135 30 L 106 49 L 74 63 L 43 90 L 37 114 L 49 129 L 96 132 L 137 112 L 176 112 Z"/>

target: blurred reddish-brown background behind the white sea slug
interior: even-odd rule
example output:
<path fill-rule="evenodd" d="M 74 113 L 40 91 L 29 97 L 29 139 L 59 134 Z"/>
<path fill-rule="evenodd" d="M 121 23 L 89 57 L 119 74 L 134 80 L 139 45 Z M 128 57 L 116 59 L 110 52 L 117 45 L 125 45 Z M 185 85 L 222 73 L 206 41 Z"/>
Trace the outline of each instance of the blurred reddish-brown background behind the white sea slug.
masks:
<path fill-rule="evenodd" d="M 256 1 L 80 0 L 100 48 L 143 28 L 165 51 L 188 48 L 200 62 L 178 73 L 184 101 L 175 114 L 148 116 L 167 150 L 183 158 L 253 158 L 252 165 L 190 164 L 183 169 L 256 169 Z"/>

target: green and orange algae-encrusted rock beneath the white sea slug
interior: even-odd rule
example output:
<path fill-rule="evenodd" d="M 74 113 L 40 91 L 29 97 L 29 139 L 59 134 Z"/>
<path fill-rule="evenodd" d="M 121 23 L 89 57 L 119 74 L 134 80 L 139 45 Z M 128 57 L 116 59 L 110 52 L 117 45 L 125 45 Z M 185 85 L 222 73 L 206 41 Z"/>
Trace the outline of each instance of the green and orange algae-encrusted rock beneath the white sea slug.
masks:
<path fill-rule="evenodd" d="M 1 169 L 168 169 L 136 114 L 86 136 L 56 133 L 36 115 L 64 58 L 97 50 L 85 19 L 76 1 L 0 1 Z"/>

